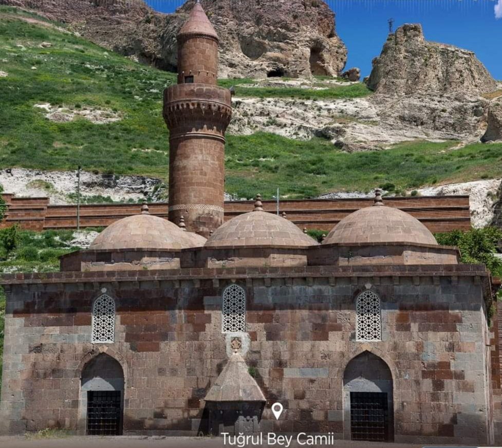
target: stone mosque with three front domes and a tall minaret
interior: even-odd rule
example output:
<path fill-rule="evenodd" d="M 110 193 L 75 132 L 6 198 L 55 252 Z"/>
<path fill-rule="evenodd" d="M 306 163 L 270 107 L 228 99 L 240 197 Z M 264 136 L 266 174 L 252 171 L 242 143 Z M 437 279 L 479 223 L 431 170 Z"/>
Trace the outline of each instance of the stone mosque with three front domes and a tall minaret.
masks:
<path fill-rule="evenodd" d="M 502 443 L 485 266 L 378 191 L 322 244 L 259 196 L 224 223 L 231 93 L 198 3 L 178 46 L 169 221 L 144 205 L 61 272 L 2 277 L 0 432 Z"/>

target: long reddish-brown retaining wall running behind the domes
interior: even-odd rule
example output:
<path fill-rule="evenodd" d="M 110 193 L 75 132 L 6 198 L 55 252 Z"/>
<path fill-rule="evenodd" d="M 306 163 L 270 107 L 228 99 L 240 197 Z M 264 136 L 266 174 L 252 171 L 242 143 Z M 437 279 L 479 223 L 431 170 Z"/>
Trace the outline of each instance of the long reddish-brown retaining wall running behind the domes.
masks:
<path fill-rule="evenodd" d="M 50 205 L 48 198 L 15 198 L 4 194 L 6 218 L 0 228 L 18 224 L 31 230 L 77 228 L 76 205 Z M 469 196 L 385 198 L 385 205 L 397 207 L 420 220 L 432 232 L 471 228 Z M 280 212 L 301 228 L 328 232 L 349 213 L 373 204 L 373 199 L 306 199 L 281 201 Z M 152 215 L 168 217 L 167 203 L 149 204 Z M 274 201 L 263 201 L 266 211 L 275 211 Z M 253 201 L 225 203 L 225 220 L 253 209 Z M 86 204 L 80 207 L 80 226 L 101 227 L 136 215 L 140 204 Z"/>

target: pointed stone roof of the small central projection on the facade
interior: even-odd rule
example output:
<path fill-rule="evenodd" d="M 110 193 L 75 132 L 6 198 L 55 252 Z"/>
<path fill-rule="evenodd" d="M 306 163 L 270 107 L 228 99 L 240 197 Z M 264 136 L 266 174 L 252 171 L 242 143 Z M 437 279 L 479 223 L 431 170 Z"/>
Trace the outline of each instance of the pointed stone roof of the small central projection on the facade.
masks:
<path fill-rule="evenodd" d="M 266 401 L 262 389 L 249 375 L 244 358 L 234 353 L 209 389 L 206 401 Z"/>

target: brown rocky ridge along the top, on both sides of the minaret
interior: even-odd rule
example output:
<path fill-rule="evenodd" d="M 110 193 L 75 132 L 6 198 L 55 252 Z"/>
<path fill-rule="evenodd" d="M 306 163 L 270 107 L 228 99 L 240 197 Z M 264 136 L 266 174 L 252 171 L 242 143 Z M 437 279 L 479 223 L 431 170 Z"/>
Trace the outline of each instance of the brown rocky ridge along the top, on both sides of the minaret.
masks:
<path fill-rule="evenodd" d="M 176 34 L 195 0 L 160 14 L 143 0 L 0 0 L 71 24 L 90 41 L 175 71 Z M 220 37 L 220 77 L 338 75 L 347 51 L 322 0 L 202 0 Z"/>

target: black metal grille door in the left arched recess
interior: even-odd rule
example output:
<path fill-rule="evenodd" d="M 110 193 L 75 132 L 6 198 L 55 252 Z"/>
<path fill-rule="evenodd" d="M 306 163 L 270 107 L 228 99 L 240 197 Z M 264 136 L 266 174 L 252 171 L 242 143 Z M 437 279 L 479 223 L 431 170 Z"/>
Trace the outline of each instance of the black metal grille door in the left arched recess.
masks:
<path fill-rule="evenodd" d="M 87 392 L 87 435 L 119 436 L 121 433 L 120 391 Z"/>

